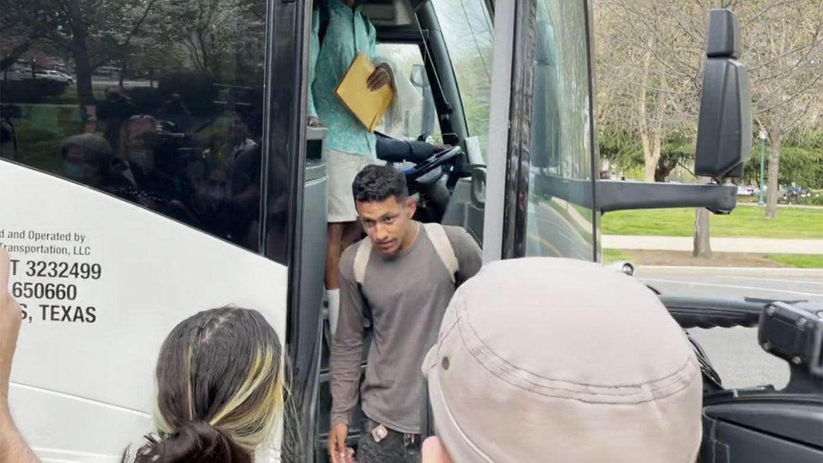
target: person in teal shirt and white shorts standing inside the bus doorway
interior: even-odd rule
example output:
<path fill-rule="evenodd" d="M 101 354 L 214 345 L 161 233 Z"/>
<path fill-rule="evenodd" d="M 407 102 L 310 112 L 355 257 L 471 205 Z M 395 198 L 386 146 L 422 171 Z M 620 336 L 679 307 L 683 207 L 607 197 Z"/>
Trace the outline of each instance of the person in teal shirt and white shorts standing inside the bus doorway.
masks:
<path fill-rule="evenodd" d="M 337 265 L 342 250 L 358 240 L 361 233 L 351 198 L 351 180 L 360 169 L 377 160 L 374 133 L 351 115 L 334 90 L 356 55 L 363 53 L 376 67 L 368 80 L 370 89 L 377 91 L 387 85 L 395 87 L 392 106 L 384 117 L 398 119 L 410 98 L 406 87 L 401 86 L 398 92 L 394 85 L 396 66 L 392 60 L 378 56 L 377 31 L 363 16 L 358 3 L 356 0 L 319 0 L 316 2 L 318 9 L 312 16 L 308 115 L 309 125 L 328 127 L 325 140 L 328 169 L 326 289 L 332 334 L 336 329 L 340 300 Z M 321 12 L 328 18 L 322 38 Z M 416 95 L 413 88 L 412 94 Z"/>

